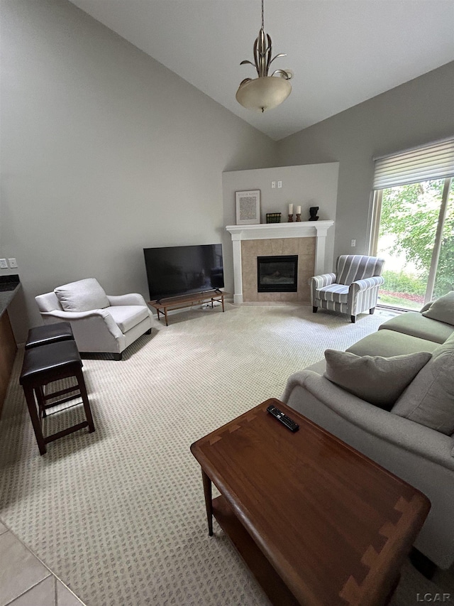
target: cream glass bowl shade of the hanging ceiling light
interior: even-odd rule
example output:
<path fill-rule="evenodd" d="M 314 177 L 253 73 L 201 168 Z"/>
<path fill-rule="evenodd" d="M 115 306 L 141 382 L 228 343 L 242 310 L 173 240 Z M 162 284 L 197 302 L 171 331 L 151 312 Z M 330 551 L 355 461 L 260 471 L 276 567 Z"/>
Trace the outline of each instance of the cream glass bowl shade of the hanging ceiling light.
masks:
<path fill-rule="evenodd" d="M 236 92 L 236 100 L 246 109 L 266 112 L 280 105 L 291 92 L 292 86 L 285 78 L 262 76 L 242 82 Z"/>

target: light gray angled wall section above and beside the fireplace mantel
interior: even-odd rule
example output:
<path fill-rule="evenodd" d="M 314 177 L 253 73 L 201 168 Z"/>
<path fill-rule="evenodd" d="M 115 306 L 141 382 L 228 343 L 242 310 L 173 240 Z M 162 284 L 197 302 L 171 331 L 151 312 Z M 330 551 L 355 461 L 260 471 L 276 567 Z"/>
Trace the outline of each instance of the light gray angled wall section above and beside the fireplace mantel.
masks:
<path fill-rule="evenodd" d="M 260 223 L 266 223 L 267 212 L 281 212 L 281 222 L 288 220 L 289 203 L 292 202 L 294 213 L 301 206 L 301 221 L 309 220 L 309 207 L 319 207 L 320 220 L 336 218 L 336 200 L 338 189 L 337 162 L 328 164 L 309 164 L 306 166 L 279 166 L 257 168 L 253 171 L 231 171 L 223 173 L 224 222 L 236 225 L 237 191 L 260 190 Z M 277 181 L 282 181 L 282 188 L 277 188 Z M 272 188 L 276 181 L 276 188 Z M 294 217 L 296 219 L 296 217 Z M 331 267 L 333 261 L 334 230 L 328 229 L 326 237 L 326 265 Z M 231 234 L 224 245 L 224 266 L 226 274 L 232 276 L 226 281 L 226 290 L 233 293 L 233 247 Z"/>

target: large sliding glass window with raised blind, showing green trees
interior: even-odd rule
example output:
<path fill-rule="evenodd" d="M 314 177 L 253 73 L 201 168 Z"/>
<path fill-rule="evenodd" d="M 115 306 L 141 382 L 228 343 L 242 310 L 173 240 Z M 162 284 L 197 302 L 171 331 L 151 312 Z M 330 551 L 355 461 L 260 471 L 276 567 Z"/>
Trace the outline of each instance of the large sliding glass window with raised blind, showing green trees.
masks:
<path fill-rule="evenodd" d="M 420 309 L 454 290 L 454 139 L 377 158 L 371 254 L 380 305 Z"/>

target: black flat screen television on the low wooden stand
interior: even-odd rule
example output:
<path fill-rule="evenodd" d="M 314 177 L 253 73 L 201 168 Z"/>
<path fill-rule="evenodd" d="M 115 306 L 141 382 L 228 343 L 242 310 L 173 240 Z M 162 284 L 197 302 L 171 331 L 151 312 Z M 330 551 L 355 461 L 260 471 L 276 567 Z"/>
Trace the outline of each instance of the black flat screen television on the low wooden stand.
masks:
<path fill-rule="evenodd" d="M 223 288 L 222 244 L 143 249 L 150 301 Z"/>

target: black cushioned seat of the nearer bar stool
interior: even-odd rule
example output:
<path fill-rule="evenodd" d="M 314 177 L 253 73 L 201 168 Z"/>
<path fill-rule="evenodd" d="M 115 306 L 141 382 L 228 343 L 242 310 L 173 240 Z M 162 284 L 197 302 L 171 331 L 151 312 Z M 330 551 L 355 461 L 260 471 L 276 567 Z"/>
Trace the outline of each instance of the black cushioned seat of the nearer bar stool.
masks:
<path fill-rule="evenodd" d="M 82 367 L 79 350 L 75 341 L 59 341 L 32 347 L 26 350 L 23 357 L 23 365 L 19 383 L 28 379 L 37 378 L 40 373 L 64 372 L 65 367 L 71 367 L 72 364 L 78 364 Z"/>

